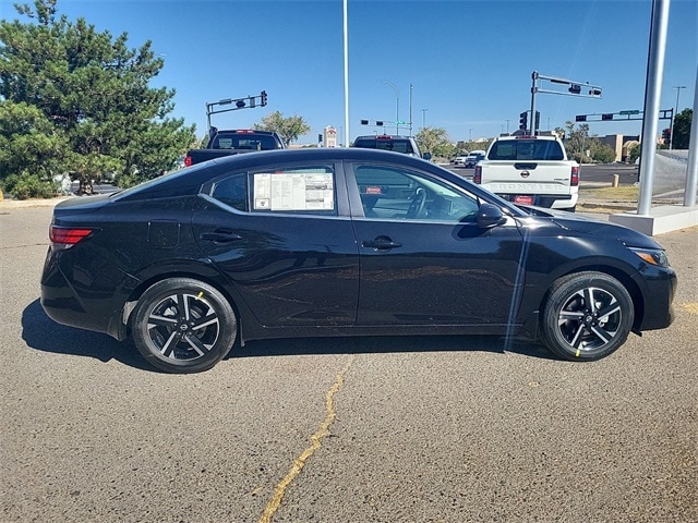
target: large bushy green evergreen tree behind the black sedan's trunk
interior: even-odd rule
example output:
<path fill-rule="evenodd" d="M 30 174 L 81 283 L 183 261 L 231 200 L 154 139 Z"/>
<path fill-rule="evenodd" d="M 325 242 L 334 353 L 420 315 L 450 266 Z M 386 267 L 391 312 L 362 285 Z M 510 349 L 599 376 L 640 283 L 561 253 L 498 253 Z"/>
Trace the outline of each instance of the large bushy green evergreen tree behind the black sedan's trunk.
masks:
<path fill-rule="evenodd" d="M 15 144 L 0 156 L 0 175 L 48 181 L 50 174 L 71 173 L 89 192 L 92 180 L 108 173 L 125 186 L 171 169 L 195 136 L 193 125 L 168 118 L 174 90 L 148 85 L 163 59 L 151 41 L 130 49 L 125 33 L 113 38 L 84 19 L 59 17 L 57 1 L 15 5 L 28 22 L 0 22 L 0 99 L 8 107 L 0 118 L 33 111 L 32 125 L 20 129 L 20 136 L 9 131 L 12 121 L 0 122 L 0 139 Z M 51 146 L 37 145 L 21 162 L 16 144 L 38 134 Z"/>

